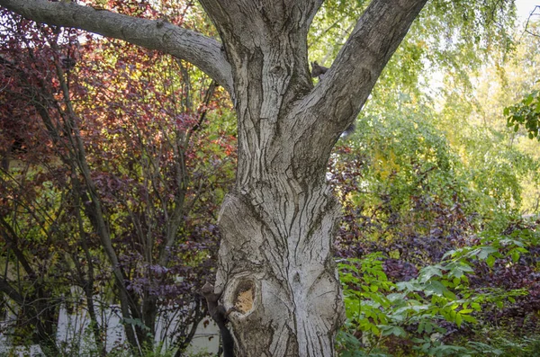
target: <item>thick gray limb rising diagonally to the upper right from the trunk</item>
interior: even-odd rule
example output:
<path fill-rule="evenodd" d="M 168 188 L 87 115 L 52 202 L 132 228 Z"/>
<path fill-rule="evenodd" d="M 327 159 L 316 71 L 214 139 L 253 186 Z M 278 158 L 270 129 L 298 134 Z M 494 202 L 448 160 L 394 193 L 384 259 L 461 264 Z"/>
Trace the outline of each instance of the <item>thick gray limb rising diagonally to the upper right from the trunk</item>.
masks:
<path fill-rule="evenodd" d="M 427 0 L 373 0 L 320 84 L 299 104 L 295 112 L 317 113 L 305 118 L 311 120 L 311 126 L 318 127 L 316 132 L 335 134 L 330 145 L 355 120 L 386 63 L 426 3 Z"/>

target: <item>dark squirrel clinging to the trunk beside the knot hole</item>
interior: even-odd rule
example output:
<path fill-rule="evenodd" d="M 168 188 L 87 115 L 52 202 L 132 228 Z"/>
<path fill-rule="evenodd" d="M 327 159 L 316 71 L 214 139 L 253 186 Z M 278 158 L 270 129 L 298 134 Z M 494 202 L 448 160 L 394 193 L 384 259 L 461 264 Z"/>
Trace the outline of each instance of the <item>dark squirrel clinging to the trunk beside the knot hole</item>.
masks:
<path fill-rule="evenodd" d="M 236 308 L 233 307 L 226 310 L 220 304 L 221 294 L 216 294 L 213 290 L 213 285 L 207 281 L 200 292 L 204 299 L 206 299 L 209 315 L 220 328 L 223 357 L 234 357 L 234 338 L 230 334 L 229 328 L 227 328 L 227 323 L 229 322 L 229 314 L 235 311 Z"/>

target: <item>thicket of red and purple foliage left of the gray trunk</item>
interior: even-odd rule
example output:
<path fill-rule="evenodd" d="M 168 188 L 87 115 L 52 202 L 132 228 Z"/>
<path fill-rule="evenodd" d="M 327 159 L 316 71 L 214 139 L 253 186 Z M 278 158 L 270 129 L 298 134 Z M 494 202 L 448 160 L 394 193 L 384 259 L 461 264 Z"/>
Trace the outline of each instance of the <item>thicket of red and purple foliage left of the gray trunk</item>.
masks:
<path fill-rule="evenodd" d="M 229 133 L 203 130 L 220 91 L 156 52 L 81 45 L 78 31 L 13 13 L 2 21 L 3 292 L 20 305 L 18 322 L 58 355 L 58 308 L 79 287 L 104 355 L 96 299 L 114 292 L 134 351 L 153 347 L 160 320 L 176 324 L 166 337 L 182 353 L 204 316 L 193 290 L 214 264 L 212 213 L 235 159 Z"/>

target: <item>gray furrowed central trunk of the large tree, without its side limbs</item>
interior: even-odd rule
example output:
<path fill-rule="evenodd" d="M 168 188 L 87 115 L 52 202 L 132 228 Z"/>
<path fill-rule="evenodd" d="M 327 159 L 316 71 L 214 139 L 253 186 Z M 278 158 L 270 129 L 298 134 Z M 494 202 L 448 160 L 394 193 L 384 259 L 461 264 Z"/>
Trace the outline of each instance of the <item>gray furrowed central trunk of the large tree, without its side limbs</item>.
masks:
<path fill-rule="evenodd" d="M 307 125 L 316 114 L 295 106 L 313 88 L 309 15 L 293 22 L 282 12 L 294 9 L 261 13 L 247 3 L 219 27 L 239 147 L 236 188 L 220 211 L 217 289 L 225 308 L 237 308 L 237 355 L 328 357 L 344 320 L 332 256 L 339 206 L 325 180 L 335 138 L 322 139 Z"/>

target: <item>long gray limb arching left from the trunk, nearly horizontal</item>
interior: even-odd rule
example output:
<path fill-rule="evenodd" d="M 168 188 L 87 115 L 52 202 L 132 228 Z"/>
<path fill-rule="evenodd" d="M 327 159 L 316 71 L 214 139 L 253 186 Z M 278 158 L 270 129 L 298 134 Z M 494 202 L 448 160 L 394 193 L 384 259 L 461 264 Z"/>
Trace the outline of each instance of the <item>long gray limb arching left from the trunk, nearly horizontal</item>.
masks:
<path fill-rule="evenodd" d="M 0 0 L 0 5 L 36 22 L 74 27 L 182 58 L 201 68 L 231 93 L 230 65 L 220 42 L 195 31 L 165 21 L 140 19 L 73 3 Z"/>

